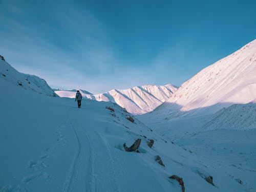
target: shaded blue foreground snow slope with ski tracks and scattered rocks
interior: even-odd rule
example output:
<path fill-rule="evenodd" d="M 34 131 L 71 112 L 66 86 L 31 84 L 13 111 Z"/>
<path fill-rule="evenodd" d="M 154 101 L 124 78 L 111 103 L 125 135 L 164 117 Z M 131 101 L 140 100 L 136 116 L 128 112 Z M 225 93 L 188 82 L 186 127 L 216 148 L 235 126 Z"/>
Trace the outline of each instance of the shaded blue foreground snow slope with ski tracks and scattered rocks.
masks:
<path fill-rule="evenodd" d="M 0 83 L 0 191 L 180 192 L 172 175 L 183 178 L 186 191 L 253 187 L 163 140 L 136 118 L 130 122 L 115 103 L 83 100 L 78 109 L 73 99 L 36 94 L 3 78 Z M 125 152 L 123 143 L 137 138 L 140 153 Z M 149 139 L 155 140 L 152 148 Z M 215 186 L 205 181 L 208 176 Z"/>

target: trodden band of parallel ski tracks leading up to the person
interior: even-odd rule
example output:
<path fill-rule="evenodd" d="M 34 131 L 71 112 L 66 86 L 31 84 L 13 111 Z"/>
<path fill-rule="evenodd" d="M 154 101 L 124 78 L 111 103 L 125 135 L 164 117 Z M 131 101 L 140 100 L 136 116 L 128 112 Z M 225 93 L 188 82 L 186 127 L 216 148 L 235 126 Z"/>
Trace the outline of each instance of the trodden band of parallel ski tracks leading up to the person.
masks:
<path fill-rule="evenodd" d="M 110 145 L 94 130 L 94 127 L 83 125 L 87 120 L 82 120 L 82 113 L 80 111 L 78 113 L 77 111 L 74 112 L 77 115 L 73 119 L 69 118 L 71 117 L 69 113 L 71 113 L 71 110 L 68 112 L 67 125 L 72 127 L 74 131 L 77 141 L 77 152 L 70 166 L 69 176 L 64 184 L 63 192 L 81 191 L 84 189 L 92 192 L 119 191 L 114 166 L 115 162 L 111 155 Z M 97 150 L 97 148 L 102 147 L 106 148 L 106 150 Z M 104 188 L 105 186 L 111 188 Z"/>

